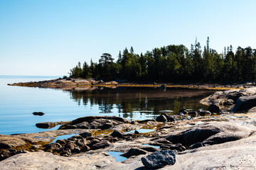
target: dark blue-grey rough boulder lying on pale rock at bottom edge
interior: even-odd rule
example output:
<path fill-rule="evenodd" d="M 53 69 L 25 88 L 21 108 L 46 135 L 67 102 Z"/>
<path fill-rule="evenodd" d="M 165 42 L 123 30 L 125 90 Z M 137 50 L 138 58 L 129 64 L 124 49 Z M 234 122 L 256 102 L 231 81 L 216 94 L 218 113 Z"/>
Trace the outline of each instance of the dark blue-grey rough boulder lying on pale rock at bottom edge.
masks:
<path fill-rule="evenodd" d="M 161 150 L 149 154 L 146 157 L 142 157 L 142 164 L 146 168 L 156 169 L 166 165 L 175 164 L 176 157 L 171 150 Z"/>

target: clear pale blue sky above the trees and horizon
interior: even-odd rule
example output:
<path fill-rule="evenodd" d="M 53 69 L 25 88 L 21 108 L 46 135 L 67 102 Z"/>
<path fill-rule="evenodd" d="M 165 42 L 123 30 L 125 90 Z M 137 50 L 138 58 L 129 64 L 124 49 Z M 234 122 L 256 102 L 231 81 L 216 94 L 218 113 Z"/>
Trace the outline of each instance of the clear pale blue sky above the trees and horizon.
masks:
<path fill-rule="evenodd" d="M 78 62 L 117 59 L 196 37 L 222 52 L 256 48 L 255 0 L 0 0 L 0 75 L 68 75 Z"/>

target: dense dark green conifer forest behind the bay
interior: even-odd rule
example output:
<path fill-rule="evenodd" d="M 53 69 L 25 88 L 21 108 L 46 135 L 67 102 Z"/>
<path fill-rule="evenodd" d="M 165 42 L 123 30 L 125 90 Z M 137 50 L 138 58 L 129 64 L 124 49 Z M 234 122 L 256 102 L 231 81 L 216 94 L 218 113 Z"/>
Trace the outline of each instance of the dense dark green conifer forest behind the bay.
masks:
<path fill-rule="evenodd" d="M 197 40 L 190 50 L 184 45 L 156 47 L 145 54 L 135 54 L 133 47 L 119 51 L 114 62 L 108 53 L 99 62 L 84 62 L 70 69 L 70 77 L 95 78 L 104 81 L 124 79 L 150 82 L 205 82 L 235 83 L 256 80 L 256 50 L 232 45 L 219 54 L 209 47 L 210 39 L 201 47 Z"/>

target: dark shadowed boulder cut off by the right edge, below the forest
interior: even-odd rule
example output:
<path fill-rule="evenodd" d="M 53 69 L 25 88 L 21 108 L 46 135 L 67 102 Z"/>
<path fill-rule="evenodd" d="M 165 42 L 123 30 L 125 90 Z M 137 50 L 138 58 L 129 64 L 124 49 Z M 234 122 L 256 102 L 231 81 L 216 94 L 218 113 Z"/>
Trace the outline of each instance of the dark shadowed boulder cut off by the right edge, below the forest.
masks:
<path fill-rule="evenodd" d="M 256 95 L 242 96 L 238 98 L 235 106 L 231 109 L 234 113 L 245 112 L 256 106 Z"/>

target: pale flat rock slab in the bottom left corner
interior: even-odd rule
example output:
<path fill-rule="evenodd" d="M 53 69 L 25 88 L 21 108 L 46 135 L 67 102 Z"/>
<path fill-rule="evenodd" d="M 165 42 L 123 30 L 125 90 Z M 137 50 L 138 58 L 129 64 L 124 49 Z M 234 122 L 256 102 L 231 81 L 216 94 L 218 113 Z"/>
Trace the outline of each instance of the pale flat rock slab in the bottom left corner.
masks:
<path fill-rule="evenodd" d="M 104 154 L 82 154 L 78 157 L 60 157 L 49 152 L 28 152 L 0 162 L 1 170 L 10 169 L 99 169 L 114 162 Z"/>

